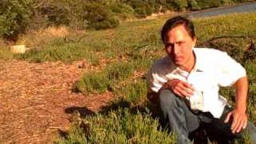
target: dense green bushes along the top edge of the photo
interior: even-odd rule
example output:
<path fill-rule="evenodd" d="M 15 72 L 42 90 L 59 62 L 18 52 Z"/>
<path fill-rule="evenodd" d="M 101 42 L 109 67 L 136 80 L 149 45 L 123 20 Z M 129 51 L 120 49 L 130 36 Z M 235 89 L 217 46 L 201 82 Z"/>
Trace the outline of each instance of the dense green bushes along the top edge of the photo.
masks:
<path fill-rule="evenodd" d="M 74 29 L 109 29 L 124 20 L 146 18 L 153 13 L 202 10 L 252 0 L 2 0 L 0 38 L 17 41 L 27 30 L 48 26 Z"/>

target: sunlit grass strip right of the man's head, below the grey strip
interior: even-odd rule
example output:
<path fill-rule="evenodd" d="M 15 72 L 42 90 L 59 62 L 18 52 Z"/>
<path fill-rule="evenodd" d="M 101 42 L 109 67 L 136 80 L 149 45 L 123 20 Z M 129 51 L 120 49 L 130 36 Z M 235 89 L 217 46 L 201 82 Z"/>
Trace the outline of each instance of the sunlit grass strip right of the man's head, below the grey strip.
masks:
<path fill-rule="evenodd" d="M 223 35 L 255 37 L 255 15 L 255 13 L 227 14 L 218 17 L 197 18 L 194 19 L 196 34 L 202 42 Z"/>

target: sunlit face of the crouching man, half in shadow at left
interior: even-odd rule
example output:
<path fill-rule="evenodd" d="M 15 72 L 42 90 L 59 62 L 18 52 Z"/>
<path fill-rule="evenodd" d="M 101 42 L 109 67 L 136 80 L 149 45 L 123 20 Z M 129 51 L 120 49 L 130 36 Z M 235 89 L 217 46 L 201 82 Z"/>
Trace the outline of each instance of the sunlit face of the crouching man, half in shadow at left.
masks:
<path fill-rule="evenodd" d="M 195 42 L 196 38 L 191 38 L 184 26 L 176 26 L 166 35 L 166 53 L 176 66 L 187 68 L 194 58 L 192 48 Z"/>

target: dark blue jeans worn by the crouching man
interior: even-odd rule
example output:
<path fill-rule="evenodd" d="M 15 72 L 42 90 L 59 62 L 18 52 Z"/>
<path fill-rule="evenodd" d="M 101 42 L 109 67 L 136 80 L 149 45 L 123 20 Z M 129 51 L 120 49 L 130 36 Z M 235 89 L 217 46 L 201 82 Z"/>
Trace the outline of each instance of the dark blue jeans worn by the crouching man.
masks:
<path fill-rule="evenodd" d="M 163 118 L 168 124 L 170 131 L 178 135 L 178 144 L 191 143 L 189 134 L 203 126 L 212 134 L 221 134 L 227 139 L 242 138 L 242 133 L 249 134 L 252 142 L 256 143 L 256 128 L 248 122 L 248 126 L 241 133 L 233 134 L 230 130 L 231 123 L 225 123 L 226 114 L 232 110 L 226 106 L 221 118 L 214 118 L 209 112 L 194 113 L 187 106 L 186 101 L 174 95 L 170 90 L 161 90 L 159 96 Z"/>

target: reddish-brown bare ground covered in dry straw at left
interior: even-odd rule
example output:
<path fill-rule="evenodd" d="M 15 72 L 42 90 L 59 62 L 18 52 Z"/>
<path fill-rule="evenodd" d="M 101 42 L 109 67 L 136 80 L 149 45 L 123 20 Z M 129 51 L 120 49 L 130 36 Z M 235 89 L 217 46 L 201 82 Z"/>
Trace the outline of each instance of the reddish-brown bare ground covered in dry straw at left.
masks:
<path fill-rule="evenodd" d="M 105 106 L 113 98 L 110 93 L 71 91 L 90 69 L 86 62 L 0 61 L 0 143 L 50 143 L 58 129 L 69 126 L 71 112 L 93 113 Z"/>

